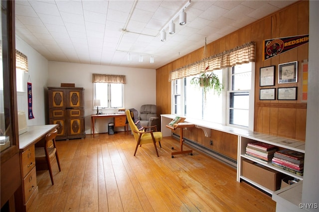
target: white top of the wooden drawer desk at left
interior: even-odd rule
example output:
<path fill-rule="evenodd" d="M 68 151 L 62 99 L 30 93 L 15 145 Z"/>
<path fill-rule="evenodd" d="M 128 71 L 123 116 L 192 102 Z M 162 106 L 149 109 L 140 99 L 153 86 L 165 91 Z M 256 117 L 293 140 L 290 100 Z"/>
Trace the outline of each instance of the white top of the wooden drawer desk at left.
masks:
<path fill-rule="evenodd" d="M 24 152 L 30 146 L 45 138 L 48 132 L 57 127 L 57 124 L 27 126 L 27 131 L 19 135 L 19 151 Z"/>

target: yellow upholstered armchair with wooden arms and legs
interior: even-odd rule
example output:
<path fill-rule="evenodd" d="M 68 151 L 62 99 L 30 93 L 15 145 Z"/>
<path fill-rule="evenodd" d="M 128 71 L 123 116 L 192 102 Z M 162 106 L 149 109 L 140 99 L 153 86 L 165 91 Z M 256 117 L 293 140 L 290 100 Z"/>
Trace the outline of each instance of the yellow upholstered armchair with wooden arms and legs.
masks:
<path fill-rule="evenodd" d="M 157 131 L 156 126 L 144 127 L 144 128 L 151 128 L 151 129 L 155 128 L 156 131 L 154 131 L 154 130 L 146 131 L 144 129 L 139 130 L 139 128 L 137 127 L 137 125 L 133 121 L 134 113 L 131 112 L 129 109 L 127 109 L 125 112 L 126 112 L 126 116 L 127 116 L 129 125 L 131 127 L 131 130 L 133 132 L 134 138 L 137 142 L 134 156 L 136 154 L 136 151 L 138 150 L 139 145 L 141 146 L 142 144 L 153 143 L 155 146 L 156 154 L 159 157 L 159 152 L 158 152 L 158 149 L 156 146 L 156 142 L 159 142 L 159 144 L 160 144 L 160 141 L 162 139 L 161 132 L 156 132 Z M 160 148 L 161 148 L 161 145 L 160 145 Z"/>

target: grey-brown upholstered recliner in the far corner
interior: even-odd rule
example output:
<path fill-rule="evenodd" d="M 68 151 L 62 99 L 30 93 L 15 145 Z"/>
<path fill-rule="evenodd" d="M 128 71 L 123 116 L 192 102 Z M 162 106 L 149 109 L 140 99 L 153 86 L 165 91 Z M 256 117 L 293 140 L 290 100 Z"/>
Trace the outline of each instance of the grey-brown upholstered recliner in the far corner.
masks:
<path fill-rule="evenodd" d="M 160 131 L 160 118 L 156 113 L 156 105 L 143 105 L 140 109 L 140 122 L 142 126 L 157 126 Z"/>

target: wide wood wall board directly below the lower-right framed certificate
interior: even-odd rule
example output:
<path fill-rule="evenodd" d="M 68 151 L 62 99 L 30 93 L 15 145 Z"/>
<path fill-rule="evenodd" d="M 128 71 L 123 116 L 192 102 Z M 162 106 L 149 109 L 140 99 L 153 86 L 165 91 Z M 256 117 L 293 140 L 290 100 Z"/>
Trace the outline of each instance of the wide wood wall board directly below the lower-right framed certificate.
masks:
<path fill-rule="evenodd" d="M 296 108 L 278 108 L 278 136 L 296 137 Z"/>

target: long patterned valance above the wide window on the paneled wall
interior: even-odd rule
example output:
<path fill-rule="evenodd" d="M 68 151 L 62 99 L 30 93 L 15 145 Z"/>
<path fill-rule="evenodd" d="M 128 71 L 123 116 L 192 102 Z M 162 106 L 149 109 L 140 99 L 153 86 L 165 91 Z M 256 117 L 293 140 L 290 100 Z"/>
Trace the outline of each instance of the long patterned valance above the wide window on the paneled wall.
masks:
<path fill-rule="evenodd" d="M 175 69 L 169 73 L 168 81 L 249 62 L 255 62 L 255 42 L 246 43 L 234 49 Z M 209 68 L 206 70 L 207 67 Z"/>

